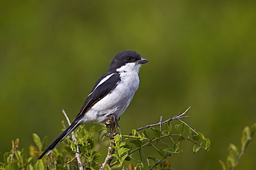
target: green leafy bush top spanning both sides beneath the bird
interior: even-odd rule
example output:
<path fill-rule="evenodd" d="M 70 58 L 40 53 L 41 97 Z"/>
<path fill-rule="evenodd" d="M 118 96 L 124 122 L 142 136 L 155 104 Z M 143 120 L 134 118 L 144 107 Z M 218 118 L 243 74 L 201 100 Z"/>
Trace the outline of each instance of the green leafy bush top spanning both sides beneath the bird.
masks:
<path fill-rule="evenodd" d="M 12 149 L 4 154 L 4 162 L 0 163 L 0 169 L 77 169 L 77 160 L 75 153 L 77 145 L 80 148 L 80 158 L 84 169 L 99 169 L 100 164 L 98 158 L 102 156 L 100 150 L 103 146 L 111 143 L 111 147 L 115 149 L 113 163 L 106 166 L 104 169 L 120 169 L 127 167 L 128 169 L 166 169 L 170 168 L 168 157 L 174 156 L 176 153 L 181 153 L 181 142 L 190 141 L 194 143 L 193 152 L 196 153 L 199 149 L 210 149 L 210 140 L 205 138 L 203 134 L 195 134 L 189 127 L 183 123 L 180 125 L 165 124 L 165 129 L 160 130 L 150 127 L 139 133 L 135 129 L 131 131 L 131 135 L 114 137 L 114 140 L 109 140 L 105 137 L 107 128 L 100 130 L 103 137 L 100 138 L 99 133 L 95 132 L 95 128 L 86 130 L 80 126 L 75 131 L 77 143 L 74 143 L 69 138 L 63 141 L 64 147 L 61 150 L 54 149 L 49 156 L 44 156 L 42 160 L 37 160 L 38 156 L 48 146 L 48 138 L 43 140 L 33 134 L 35 146 L 30 145 L 29 155 L 24 149 L 19 150 L 19 139 L 12 140 Z M 174 133 L 175 131 L 175 133 Z M 97 146 L 97 149 L 96 147 Z M 147 156 L 146 149 L 154 149 L 154 156 Z M 134 165 L 135 164 L 135 165 Z"/>

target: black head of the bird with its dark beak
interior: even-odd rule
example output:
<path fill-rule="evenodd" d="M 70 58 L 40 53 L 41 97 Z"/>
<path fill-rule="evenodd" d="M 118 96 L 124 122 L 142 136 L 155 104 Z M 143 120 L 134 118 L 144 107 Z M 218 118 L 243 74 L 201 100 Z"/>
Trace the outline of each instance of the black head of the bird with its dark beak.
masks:
<path fill-rule="evenodd" d="M 126 63 L 144 64 L 147 62 L 149 61 L 141 57 L 138 52 L 127 50 L 116 54 L 110 63 L 109 70 L 116 70 Z"/>

